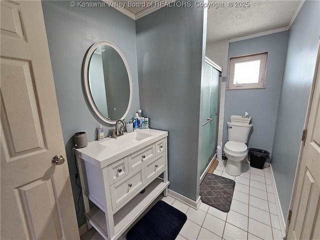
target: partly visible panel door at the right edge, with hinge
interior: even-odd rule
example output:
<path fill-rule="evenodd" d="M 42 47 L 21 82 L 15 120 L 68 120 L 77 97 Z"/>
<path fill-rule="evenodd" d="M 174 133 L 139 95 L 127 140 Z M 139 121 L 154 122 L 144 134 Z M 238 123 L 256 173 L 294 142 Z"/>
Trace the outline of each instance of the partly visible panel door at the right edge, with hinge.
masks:
<path fill-rule="evenodd" d="M 307 136 L 292 198 L 287 239 L 320 239 L 320 68 L 307 123 Z M 287 223 L 288 224 L 288 223 Z"/>

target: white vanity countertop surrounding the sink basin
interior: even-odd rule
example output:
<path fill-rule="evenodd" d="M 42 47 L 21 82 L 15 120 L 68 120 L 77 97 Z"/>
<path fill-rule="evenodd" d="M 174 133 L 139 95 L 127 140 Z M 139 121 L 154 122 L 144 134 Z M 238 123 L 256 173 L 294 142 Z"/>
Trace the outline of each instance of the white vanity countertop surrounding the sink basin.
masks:
<path fill-rule="evenodd" d="M 162 130 L 155 130 L 155 129 L 145 129 L 143 131 L 138 131 L 137 133 L 145 133 L 149 134 L 150 136 L 129 143 L 123 147 L 112 147 L 108 146 L 108 143 L 111 143 L 111 145 L 115 145 L 117 140 L 121 141 L 122 139 L 126 139 L 129 135 L 127 134 L 132 134 L 134 132 L 124 132 L 124 135 L 122 136 L 117 136 L 116 138 L 111 138 L 111 137 L 106 137 L 104 140 L 101 141 L 91 141 L 88 143 L 86 147 L 82 148 L 77 148 L 76 154 L 82 158 L 83 160 L 90 162 L 91 164 L 103 168 L 111 163 L 113 163 L 116 160 L 121 159 L 122 157 L 125 157 L 127 155 L 132 154 L 133 152 L 155 142 L 163 137 L 166 137 L 168 135 L 167 131 L 162 131 Z M 105 144 L 105 145 L 103 145 Z M 121 144 L 123 145 L 123 141 L 121 141 Z"/>

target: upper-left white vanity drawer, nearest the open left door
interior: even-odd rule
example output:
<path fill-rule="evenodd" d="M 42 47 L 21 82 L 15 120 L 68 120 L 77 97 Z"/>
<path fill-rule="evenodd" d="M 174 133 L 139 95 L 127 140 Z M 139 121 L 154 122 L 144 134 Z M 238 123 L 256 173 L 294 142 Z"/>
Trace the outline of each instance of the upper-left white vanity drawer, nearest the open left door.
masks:
<path fill-rule="evenodd" d="M 117 182 L 122 179 L 124 176 L 128 174 L 128 161 L 127 157 L 124 157 L 116 162 L 107 166 L 108 168 L 108 176 L 109 176 L 109 184 Z"/>

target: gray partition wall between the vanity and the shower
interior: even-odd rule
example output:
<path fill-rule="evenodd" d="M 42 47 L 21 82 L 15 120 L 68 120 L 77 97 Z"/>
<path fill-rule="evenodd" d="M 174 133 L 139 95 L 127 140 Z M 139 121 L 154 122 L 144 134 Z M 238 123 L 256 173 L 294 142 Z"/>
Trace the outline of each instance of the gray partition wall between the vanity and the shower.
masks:
<path fill-rule="evenodd" d="M 195 200 L 203 8 L 164 7 L 135 27 L 141 109 L 168 131 L 169 188 Z"/>

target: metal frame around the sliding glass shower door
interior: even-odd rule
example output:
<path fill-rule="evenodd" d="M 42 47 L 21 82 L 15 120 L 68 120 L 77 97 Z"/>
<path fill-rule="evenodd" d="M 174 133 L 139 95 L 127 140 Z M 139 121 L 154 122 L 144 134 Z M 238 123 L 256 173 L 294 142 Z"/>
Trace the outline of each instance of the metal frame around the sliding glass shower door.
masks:
<path fill-rule="evenodd" d="M 218 64 L 216 64 L 214 61 L 212 61 L 207 56 L 205 56 L 204 62 L 208 63 L 209 65 L 211 65 L 213 68 L 215 68 L 216 70 L 218 70 L 220 72 L 220 74 L 219 74 L 219 97 L 218 97 L 217 114 L 216 114 L 216 117 L 217 117 L 216 129 L 217 130 L 216 130 L 216 136 L 215 136 L 215 141 L 218 144 L 217 140 L 218 140 L 218 130 L 219 130 L 219 119 L 220 119 L 220 98 L 221 98 L 222 67 L 220 67 Z M 200 183 L 202 182 L 205 174 L 210 169 L 210 166 L 212 165 L 213 160 L 216 157 L 216 151 L 217 151 L 217 149 L 215 149 L 214 153 L 209 158 L 208 163 L 206 164 L 206 167 L 204 168 L 203 172 L 200 174 L 200 181 L 199 181 Z"/>

